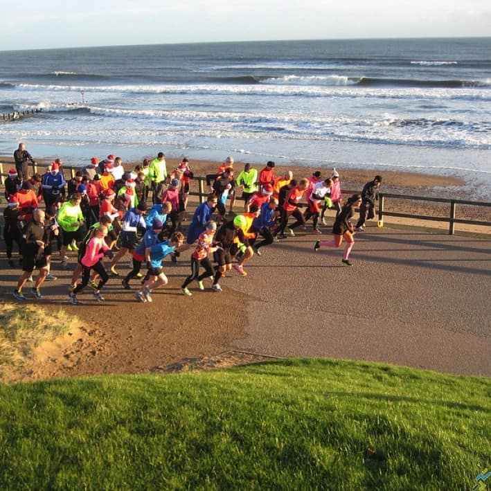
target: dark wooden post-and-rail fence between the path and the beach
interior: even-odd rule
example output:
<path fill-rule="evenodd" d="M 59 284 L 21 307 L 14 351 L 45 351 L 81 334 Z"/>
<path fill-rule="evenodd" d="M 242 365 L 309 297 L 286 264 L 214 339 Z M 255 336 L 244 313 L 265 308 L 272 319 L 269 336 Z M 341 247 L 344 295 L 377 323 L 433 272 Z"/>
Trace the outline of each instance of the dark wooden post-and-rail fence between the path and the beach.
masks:
<path fill-rule="evenodd" d="M 37 173 L 39 168 L 46 168 L 48 164 L 39 164 L 36 163 L 30 164 L 33 168 L 33 173 Z M 10 167 L 12 164 L 10 164 Z M 69 171 L 70 179 L 75 177 L 75 173 L 77 170 L 80 170 L 78 167 L 72 166 L 63 166 L 64 171 Z M 3 163 L 0 162 L 0 184 L 3 184 L 4 177 L 8 176 L 8 173 L 4 172 Z M 203 203 L 206 201 L 206 196 L 208 196 L 208 185 L 206 184 L 206 177 L 203 176 L 195 176 L 193 183 L 197 184 L 197 190 L 191 190 L 190 195 L 196 196 L 199 200 L 199 203 Z M 194 187 L 194 186 L 193 186 Z M 354 193 L 359 193 L 359 190 L 343 190 L 345 195 L 351 195 Z M 386 199 L 408 199 L 411 201 L 422 201 L 422 202 L 434 202 L 434 203 L 443 203 L 449 205 L 449 214 L 446 217 L 435 217 L 431 215 L 416 215 L 414 213 L 403 213 L 396 211 L 386 211 L 384 209 L 386 204 Z M 431 222 L 447 222 L 449 224 L 449 235 L 454 235 L 455 233 L 455 224 L 468 224 L 468 225 L 479 225 L 479 226 L 491 226 L 491 222 L 485 220 L 469 220 L 465 218 L 457 218 L 456 211 L 458 205 L 465 206 L 483 206 L 486 208 L 491 207 L 491 202 L 476 202 L 470 201 L 468 199 L 448 199 L 448 198 L 438 198 L 438 197 L 428 197 L 428 196 L 408 196 L 408 195 L 397 195 L 393 193 L 380 193 L 379 205 L 378 205 L 378 220 L 384 220 L 384 217 L 400 217 L 400 218 L 413 218 L 416 220 L 427 220 Z M 305 204 L 300 204 L 300 206 L 305 206 Z"/>

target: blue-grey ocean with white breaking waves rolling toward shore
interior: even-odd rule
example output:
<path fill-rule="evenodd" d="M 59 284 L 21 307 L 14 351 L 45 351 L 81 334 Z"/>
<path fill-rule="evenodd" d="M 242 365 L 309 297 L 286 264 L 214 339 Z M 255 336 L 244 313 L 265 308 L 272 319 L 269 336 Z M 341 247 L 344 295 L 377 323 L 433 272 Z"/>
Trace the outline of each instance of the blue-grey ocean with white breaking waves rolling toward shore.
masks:
<path fill-rule="evenodd" d="M 0 154 L 411 170 L 491 199 L 491 38 L 0 52 L 0 114 L 31 109 Z"/>

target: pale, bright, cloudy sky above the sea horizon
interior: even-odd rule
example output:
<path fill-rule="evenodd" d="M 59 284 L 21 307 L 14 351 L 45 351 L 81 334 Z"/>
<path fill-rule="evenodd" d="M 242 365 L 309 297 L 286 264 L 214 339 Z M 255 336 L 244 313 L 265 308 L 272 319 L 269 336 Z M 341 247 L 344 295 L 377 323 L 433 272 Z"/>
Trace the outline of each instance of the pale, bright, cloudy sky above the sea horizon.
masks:
<path fill-rule="evenodd" d="M 0 51 L 76 46 L 491 36 L 489 0 L 0 0 Z"/>

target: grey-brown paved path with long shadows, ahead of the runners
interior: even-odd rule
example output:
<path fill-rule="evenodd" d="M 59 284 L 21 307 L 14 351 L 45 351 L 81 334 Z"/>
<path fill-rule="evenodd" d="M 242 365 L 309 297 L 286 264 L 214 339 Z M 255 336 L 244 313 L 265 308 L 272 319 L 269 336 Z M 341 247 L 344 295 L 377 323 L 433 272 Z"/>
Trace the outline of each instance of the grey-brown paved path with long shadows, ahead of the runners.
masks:
<path fill-rule="evenodd" d="M 491 376 L 491 238 L 415 230 L 368 226 L 356 236 L 353 267 L 341 267 L 341 249 L 314 253 L 316 237 L 303 232 L 263 249 L 262 257 L 247 265 L 249 276 L 233 273 L 222 282 L 224 303 L 229 293 L 244 295 L 247 314 L 244 337 L 232 348 Z M 4 259 L 1 263 L 5 267 Z M 168 268 L 170 287 L 176 289 L 188 274 L 188 258 Z M 60 271 L 57 259 L 53 270 L 60 280 L 46 284 L 48 296 L 40 302 L 66 303 L 71 271 Z M 12 300 L 18 274 L 3 270 L 1 298 Z M 115 305 L 132 300 L 119 282 L 111 281 L 107 290 Z M 206 294 L 175 298 L 175 312 L 187 302 L 196 319 L 210 299 Z M 220 316 L 209 321 L 220 322 Z"/>

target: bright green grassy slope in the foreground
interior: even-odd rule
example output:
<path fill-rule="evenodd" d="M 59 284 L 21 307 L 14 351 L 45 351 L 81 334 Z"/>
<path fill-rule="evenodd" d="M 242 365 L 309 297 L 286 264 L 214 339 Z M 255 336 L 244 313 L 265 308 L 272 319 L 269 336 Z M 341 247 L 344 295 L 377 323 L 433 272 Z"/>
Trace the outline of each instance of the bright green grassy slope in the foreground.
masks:
<path fill-rule="evenodd" d="M 319 359 L 0 386 L 0 488 L 472 489 L 490 396 L 485 378 Z"/>

